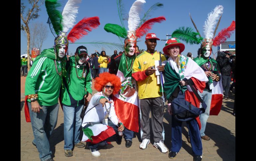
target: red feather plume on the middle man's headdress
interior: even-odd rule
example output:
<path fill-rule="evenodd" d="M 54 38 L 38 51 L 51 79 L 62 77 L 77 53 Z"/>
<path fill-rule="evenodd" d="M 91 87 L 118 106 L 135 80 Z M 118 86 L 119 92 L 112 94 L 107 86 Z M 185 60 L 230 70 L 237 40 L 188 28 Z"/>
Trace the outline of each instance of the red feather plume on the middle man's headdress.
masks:
<path fill-rule="evenodd" d="M 143 35 L 146 35 L 150 29 L 152 29 L 152 26 L 155 23 L 161 23 L 162 21 L 165 21 L 165 17 L 164 16 L 160 16 L 160 17 L 156 17 L 153 19 L 149 19 L 148 21 L 144 22 L 144 24 L 141 25 L 141 27 L 139 27 L 136 30 L 136 37 L 142 37 Z"/>

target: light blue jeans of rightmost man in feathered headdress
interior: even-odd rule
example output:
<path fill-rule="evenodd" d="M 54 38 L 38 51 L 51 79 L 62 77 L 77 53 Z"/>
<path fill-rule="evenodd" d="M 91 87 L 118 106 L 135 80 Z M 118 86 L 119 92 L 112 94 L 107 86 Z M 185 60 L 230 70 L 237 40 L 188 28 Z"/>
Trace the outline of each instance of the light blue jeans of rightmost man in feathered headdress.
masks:
<path fill-rule="evenodd" d="M 211 92 L 207 92 L 207 91 L 203 91 L 202 93 L 200 93 L 199 91 L 197 91 L 197 92 L 207 106 L 205 109 L 205 112 L 199 116 L 199 119 L 201 122 L 200 136 L 204 136 L 206 122 L 209 117 L 210 108 L 211 108 Z M 200 104 L 200 108 L 202 108 L 201 104 Z"/>

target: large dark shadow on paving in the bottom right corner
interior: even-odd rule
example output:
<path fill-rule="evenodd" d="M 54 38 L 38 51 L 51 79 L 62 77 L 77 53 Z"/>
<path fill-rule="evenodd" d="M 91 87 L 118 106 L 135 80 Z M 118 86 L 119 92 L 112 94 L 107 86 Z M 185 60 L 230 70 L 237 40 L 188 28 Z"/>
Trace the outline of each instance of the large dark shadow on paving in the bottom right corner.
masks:
<path fill-rule="evenodd" d="M 217 153 L 223 161 L 235 160 L 235 136 L 220 125 L 207 122 L 207 135 L 215 142 Z"/>

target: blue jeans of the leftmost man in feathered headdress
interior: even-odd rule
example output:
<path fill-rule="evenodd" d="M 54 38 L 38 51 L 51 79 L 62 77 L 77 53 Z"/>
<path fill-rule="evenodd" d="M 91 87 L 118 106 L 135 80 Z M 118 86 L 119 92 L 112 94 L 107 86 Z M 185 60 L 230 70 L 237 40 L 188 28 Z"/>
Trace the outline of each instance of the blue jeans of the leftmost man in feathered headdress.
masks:
<path fill-rule="evenodd" d="M 59 104 L 52 106 L 41 106 L 40 113 L 31 111 L 31 103 L 28 102 L 29 114 L 31 119 L 34 140 L 39 152 L 41 161 L 52 158 L 52 151 L 50 149 L 49 138 L 56 127 Z"/>

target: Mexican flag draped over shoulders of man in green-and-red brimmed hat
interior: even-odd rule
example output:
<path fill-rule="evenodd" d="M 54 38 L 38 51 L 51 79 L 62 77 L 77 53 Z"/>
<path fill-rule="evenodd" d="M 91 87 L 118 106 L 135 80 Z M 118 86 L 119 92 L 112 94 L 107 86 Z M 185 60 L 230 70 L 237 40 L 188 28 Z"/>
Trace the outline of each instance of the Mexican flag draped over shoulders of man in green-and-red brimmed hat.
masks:
<path fill-rule="evenodd" d="M 200 107 L 200 101 L 197 99 L 195 94 L 192 92 L 189 85 L 187 86 L 181 86 L 181 75 L 184 75 L 184 78 L 192 79 L 194 83 L 194 88 L 196 90 L 199 90 L 200 92 L 203 91 L 205 88 L 205 82 L 208 81 L 208 78 L 206 77 L 204 71 L 201 67 L 199 67 L 191 58 L 180 56 L 178 57 L 181 61 L 180 64 L 184 64 L 184 70 L 183 74 L 179 72 L 179 69 L 176 65 L 176 63 L 172 60 L 170 57 L 168 59 L 168 63 L 165 65 L 165 84 L 164 89 L 166 92 L 166 96 L 168 98 L 172 95 L 173 91 L 178 87 L 182 90 L 182 92 L 185 92 L 185 100 L 188 102 L 191 102 L 192 105 L 196 107 Z M 201 123 L 199 120 L 199 117 L 195 118 L 199 129 L 201 128 Z"/>

